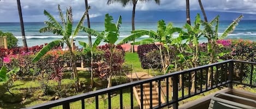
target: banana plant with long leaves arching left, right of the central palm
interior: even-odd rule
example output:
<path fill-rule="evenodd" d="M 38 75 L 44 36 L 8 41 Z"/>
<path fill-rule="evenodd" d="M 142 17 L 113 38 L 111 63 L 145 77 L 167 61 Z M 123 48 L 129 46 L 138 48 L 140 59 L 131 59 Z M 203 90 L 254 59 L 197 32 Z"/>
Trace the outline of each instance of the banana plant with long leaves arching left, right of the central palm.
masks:
<path fill-rule="evenodd" d="M 138 42 L 131 43 L 132 45 L 137 44 L 150 44 L 156 42 L 159 42 L 160 44 L 156 44 L 156 46 L 160 50 L 160 57 L 161 57 L 161 63 L 163 67 L 163 72 L 166 73 L 166 69 L 170 65 L 170 55 L 169 55 L 169 49 L 170 49 L 170 43 L 172 42 L 172 35 L 176 32 L 182 31 L 181 28 L 175 28 L 172 23 L 169 23 L 166 26 L 166 23 L 164 20 L 160 20 L 157 23 L 157 31 L 153 30 L 134 30 L 132 31 L 132 35 L 127 36 L 125 39 L 123 39 L 120 44 L 128 43 L 131 41 L 134 41 L 135 39 L 138 39 L 141 36 L 148 35 L 150 36 L 148 39 L 144 39 Z M 163 54 L 164 53 L 164 54 Z"/>

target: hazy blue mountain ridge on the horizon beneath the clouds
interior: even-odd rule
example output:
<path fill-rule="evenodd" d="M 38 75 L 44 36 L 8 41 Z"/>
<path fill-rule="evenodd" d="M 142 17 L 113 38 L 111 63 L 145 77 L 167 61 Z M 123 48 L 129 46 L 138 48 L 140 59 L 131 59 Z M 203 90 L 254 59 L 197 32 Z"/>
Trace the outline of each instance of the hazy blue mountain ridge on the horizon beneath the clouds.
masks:
<path fill-rule="evenodd" d="M 199 13 L 201 19 L 203 20 L 203 14 L 201 11 L 190 11 L 190 17 L 192 21 L 194 20 L 195 15 Z M 130 22 L 132 11 L 121 11 L 109 13 L 114 17 L 114 20 L 117 19 L 119 15 L 122 16 L 123 22 Z M 256 20 L 256 15 L 254 14 L 241 14 L 236 12 L 217 12 L 217 11 L 206 11 L 207 18 L 212 20 L 212 18 L 217 15 L 220 16 L 220 20 L 234 20 L 239 15 L 243 15 L 243 20 Z M 91 18 L 92 22 L 104 22 L 104 15 Z M 172 21 L 172 22 L 184 22 L 186 21 L 186 11 L 136 11 L 135 21 L 136 22 L 156 22 L 159 20 Z"/>

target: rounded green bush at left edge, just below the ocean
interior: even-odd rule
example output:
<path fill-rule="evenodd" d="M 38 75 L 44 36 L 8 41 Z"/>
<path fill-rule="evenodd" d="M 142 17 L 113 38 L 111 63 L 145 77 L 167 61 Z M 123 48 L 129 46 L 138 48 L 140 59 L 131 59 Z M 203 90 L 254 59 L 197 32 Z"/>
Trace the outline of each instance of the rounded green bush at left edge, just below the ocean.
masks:
<path fill-rule="evenodd" d="M 7 36 L 7 46 L 9 49 L 17 47 L 18 39 L 12 33 L 3 33 L 0 30 L 0 36 Z"/>

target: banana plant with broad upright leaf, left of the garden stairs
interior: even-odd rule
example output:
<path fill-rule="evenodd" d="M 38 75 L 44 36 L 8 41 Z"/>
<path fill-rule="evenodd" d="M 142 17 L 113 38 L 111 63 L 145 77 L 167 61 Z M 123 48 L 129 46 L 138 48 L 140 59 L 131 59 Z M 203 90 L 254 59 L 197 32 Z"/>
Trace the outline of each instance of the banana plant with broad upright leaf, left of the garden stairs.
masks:
<path fill-rule="evenodd" d="M 87 27 L 81 27 L 81 30 L 85 31 L 88 34 L 91 34 L 92 36 L 96 36 L 97 40 L 96 42 L 94 42 L 93 46 L 96 46 L 97 44 L 99 44 L 99 41 L 103 41 L 106 42 L 110 45 L 110 62 L 109 62 L 109 66 L 110 66 L 110 71 L 109 71 L 109 77 L 108 77 L 108 87 L 112 86 L 112 72 L 113 72 L 113 61 L 112 61 L 112 56 L 114 54 L 114 51 L 116 50 L 116 46 L 115 43 L 118 40 L 119 35 L 119 29 L 121 27 L 122 24 L 122 17 L 119 16 L 118 20 L 116 22 L 116 24 L 113 22 L 113 17 L 110 16 L 109 14 L 105 15 L 105 30 L 102 31 L 101 33 L 99 33 L 96 30 L 87 28 Z M 90 49 L 88 49 L 90 50 Z"/>

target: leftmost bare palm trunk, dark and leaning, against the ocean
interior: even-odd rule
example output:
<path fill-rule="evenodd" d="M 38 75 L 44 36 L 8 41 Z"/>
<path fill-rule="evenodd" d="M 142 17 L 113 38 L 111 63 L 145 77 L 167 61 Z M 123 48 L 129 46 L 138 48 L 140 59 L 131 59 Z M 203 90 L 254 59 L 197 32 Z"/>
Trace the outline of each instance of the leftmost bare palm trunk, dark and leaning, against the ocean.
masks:
<path fill-rule="evenodd" d="M 24 23 L 23 23 L 23 18 L 22 18 L 20 0 L 17 0 L 17 8 L 18 8 L 19 17 L 20 17 L 20 27 L 21 27 L 21 36 L 22 36 L 23 47 L 27 48 L 27 41 L 26 41 L 26 36 L 25 36 L 25 29 L 24 29 Z"/>

